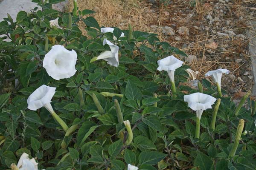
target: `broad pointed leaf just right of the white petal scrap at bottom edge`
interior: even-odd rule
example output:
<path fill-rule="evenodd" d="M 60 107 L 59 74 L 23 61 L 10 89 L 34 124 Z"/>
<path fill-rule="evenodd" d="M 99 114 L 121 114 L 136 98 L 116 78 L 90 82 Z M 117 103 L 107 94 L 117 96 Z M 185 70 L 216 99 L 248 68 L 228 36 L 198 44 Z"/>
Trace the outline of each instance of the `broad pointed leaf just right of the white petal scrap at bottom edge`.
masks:
<path fill-rule="evenodd" d="M 167 155 L 157 151 L 143 151 L 140 153 L 139 162 L 140 164 L 154 165 L 157 162 L 164 159 Z"/>

